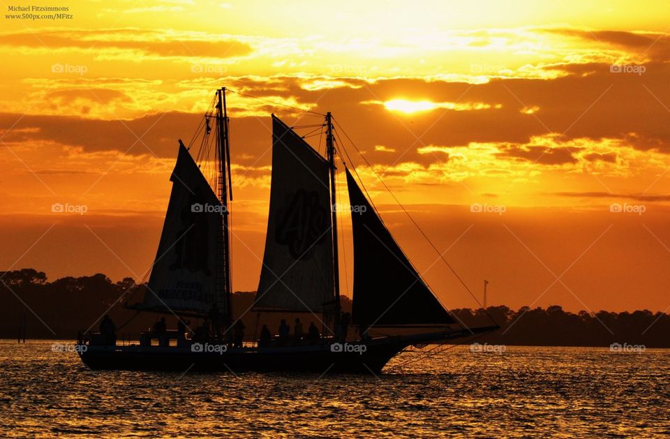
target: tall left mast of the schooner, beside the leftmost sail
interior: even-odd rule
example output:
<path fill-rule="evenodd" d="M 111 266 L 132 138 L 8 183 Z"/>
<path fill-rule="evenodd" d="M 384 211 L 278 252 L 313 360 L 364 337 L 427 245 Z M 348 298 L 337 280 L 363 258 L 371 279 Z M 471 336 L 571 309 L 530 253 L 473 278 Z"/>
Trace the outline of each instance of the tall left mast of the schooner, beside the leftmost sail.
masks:
<path fill-rule="evenodd" d="M 230 279 L 230 237 L 228 233 L 228 198 L 232 201 L 232 182 L 230 179 L 230 148 L 228 143 L 228 112 L 225 108 L 225 87 L 216 91 L 216 121 L 218 125 L 218 198 L 223 205 L 223 297 L 225 300 L 225 318 L 232 319 L 230 295 L 232 282 Z"/>

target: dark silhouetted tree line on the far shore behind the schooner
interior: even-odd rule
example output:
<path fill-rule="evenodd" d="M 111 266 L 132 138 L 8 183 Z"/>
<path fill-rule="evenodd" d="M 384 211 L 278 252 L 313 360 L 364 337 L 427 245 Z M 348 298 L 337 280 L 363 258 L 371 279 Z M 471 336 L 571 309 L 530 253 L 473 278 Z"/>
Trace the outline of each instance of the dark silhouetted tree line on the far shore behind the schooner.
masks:
<path fill-rule="evenodd" d="M 139 302 L 143 294 L 144 285 L 135 283 L 133 278 L 113 282 L 104 274 L 94 274 L 49 282 L 45 273 L 35 269 L 0 271 L 0 338 L 17 338 L 20 329 L 25 327 L 27 338 L 73 339 L 79 330 L 97 330 L 99 319 L 105 313 L 117 327 L 122 327 L 119 337 L 137 336 L 160 317 L 150 313 L 135 315 L 135 311 L 123 307 L 126 303 Z M 251 308 L 254 295 L 255 292 L 234 293 L 234 312 L 244 313 Z M 342 298 L 342 308 L 351 309 L 347 297 Z M 452 314 L 467 327 L 489 326 L 493 321 L 500 325 L 497 332 L 477 338 L 479 343 L 565 346 L 629 343 L 643 344 L 647 348 L 670 347 L 670 315 L 667 313 L 647 310 L 570 313 L 560 306 L 546 309 L 524 306 L 514 311 L 507 306 L 490 306 L 486 311 L 454 309 Z M 168 325 L 176 326 L 176 318 L 167 317 Z M 276 330 L 281 318 L 286 318 L 290 325 L 295 318 L 300 318 L 304 325 L 311 321 L 318 324 L 316 317 L 308 313 L 279 315 L 248 311 L 242 318 L 247 338 L 253 338 L 262 324 Z"/>

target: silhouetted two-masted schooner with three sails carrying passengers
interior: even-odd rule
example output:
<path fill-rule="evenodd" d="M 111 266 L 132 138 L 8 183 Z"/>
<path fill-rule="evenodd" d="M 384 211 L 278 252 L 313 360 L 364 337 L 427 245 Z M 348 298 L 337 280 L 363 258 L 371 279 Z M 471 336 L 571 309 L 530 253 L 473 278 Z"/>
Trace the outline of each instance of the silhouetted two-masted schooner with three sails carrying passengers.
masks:
<path fill-rule="evenodd" d="M 322 115 L 325 156 L 305 136 L 271 115 L 269 216 L 260 281 L 251 312 L 306 313 L 319 322 L 303 337 L 261 334 L 234 341 L 250 310 L 232 309 L 229 118 L 226 89 L 204 117 L 216 124 L 216 181 L 211 185 L 179 140 L 172 192 L 144 299 L 138 313 L 174 315 L 180 331 L 158 328 L 139 343 L 119 345 L 106 328 L 77 341 L 91 369 L 169 371 L 324 371 L 380 373 L 410 345 L 448 343 L 495 329 L 466 327 L 426 285 L 348 165 L 353 247 L 351 313 L 341 306 L 333 117 Z M 202 148 L 202 147 L 201 147 Z M 198 154 L 200 156 L 200 154 Z M 186 318 L 202 319 L 190 331 Z M 209 320 L 209 321 L 207 321 Z M 186 327 L 186 331 L 184 331 Z M 200 331 L 199 331 L 200 329 Z"/>

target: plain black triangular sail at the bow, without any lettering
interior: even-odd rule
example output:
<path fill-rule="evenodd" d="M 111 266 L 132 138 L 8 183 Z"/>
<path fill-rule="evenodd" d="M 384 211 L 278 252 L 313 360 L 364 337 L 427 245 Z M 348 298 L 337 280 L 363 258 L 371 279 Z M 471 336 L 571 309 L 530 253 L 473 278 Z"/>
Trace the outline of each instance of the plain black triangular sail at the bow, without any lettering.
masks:
<path fill-rule="evenodd" d="M 359 325 L 448 325 L 435 298 L 346 170 L 354 240 L 352 321 Z"/>

